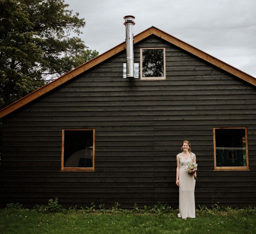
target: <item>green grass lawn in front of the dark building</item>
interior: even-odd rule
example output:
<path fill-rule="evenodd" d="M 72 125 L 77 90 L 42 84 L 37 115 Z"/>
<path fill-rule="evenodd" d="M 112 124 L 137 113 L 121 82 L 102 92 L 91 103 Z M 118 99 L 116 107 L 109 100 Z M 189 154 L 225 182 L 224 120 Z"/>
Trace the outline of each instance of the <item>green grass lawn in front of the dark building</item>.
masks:
<path fill-rule="evenodd" d="M 195 219 L 177 218 L 177 210 L 155 214 L 118 209 L 86 213 L 83 210 L 42 212 L 1 209 L 0 233 L 256 233 L 256 209 L 197 210 Z"/>

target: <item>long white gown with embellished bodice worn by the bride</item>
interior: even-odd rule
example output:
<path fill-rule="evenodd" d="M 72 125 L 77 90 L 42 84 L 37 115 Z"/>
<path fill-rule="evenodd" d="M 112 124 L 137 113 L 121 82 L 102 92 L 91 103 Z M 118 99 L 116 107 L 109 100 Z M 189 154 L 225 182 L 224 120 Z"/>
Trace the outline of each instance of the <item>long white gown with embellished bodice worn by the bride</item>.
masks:
<path fill-rule="evenodd" d="M 178 154 L 180 162 L 179 169 L 179 214 L 182 219 L 196 218 L 195 209 L 195 185 L 196 180 L 193 175 L 189 174 L 186 169 L 193 162 L 195 154 L 191 154 L 191 158 L 185 160 L 181 154 Z"/>

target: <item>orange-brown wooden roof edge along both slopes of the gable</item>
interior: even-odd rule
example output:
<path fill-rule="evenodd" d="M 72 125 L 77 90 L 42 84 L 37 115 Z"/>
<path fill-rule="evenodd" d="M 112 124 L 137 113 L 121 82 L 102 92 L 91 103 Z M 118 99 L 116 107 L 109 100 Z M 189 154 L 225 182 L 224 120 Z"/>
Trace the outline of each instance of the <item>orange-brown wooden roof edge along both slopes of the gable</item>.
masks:
<path fill-rule="evenodd" d="M 216 59 L 215 57 L 201 51 L 200 49 L 197 49 L 196 47 L 193 47 L 187 43 L 185 43 L 184 41 L 181 41 L 177 38 L 175 38 L 174 36 L 163 32 L 162 30 L 155 28 L 155 27 L 151 27 L 149 29 L 146 29 L 145 31 L 137 34 L 136 36 L 134 36 L 134 44 L 136 44 L 139 41 L 142 41 L 143 39 L 147 38 L 150 35 L 156 35 L 159 38 L 164 39 L 165 41 L 170 42 L 171 44 L 184 49 L 185 51 L 197 56 L 198 58 L 201 58 L 209 63 L 211 63 L 212 65 L 215 65 L 216 67 L 221 68 L 222 70 L 237 76 L 238 78 L 247 81 L 248 83 L 256 86 L 256 78 L 254 78 L 253 76 L 240 71 L 239 69 L 230 66 L 229 64 Z M 44 95 L 45 93 L 51 91 L 52 89 L 62 85 L 63 83 L 67 82 L 68 80 L 71 80 L 72 78 L 76 77 L 77 75 L 87 71 L 88 69 L 98 65 L 99 63 L 105 61 L 106 59 L 111 58 L 113 55 L 124 51 L 126 48 L 125 42 L 123 42 L 122 44 L 117 45 L 116 47 L 110 49 L 109 51 L 97 56 L 96 58 L 91 59 L 90 61 L 80 65 L 77 68 L 74 68 L 72 71 L 60 76 L 58 79 L 47 83 L 46 85 L 42 86 L 41 88 L 35 90 L 32 93 L 29 93 L 28 95 L 24 96 L 23 98 L 13 102 L 11 105 L 3 108 L 0 110 L 0 118 L 8 115 L 9 113 L 17 110 L 18 108 L 26 105 L 27 103 L 35 100 L 36 98 L 40 97 L 41 95 Z"/>

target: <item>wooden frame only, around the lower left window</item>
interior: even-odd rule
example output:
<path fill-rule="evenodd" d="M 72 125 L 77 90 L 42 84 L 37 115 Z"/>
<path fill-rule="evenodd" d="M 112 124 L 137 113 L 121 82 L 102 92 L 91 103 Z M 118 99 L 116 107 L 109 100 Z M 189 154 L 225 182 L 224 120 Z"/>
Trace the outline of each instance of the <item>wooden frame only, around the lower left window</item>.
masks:
<path fill-rule="evenodd" d="M 93 161 L 92 167 L 64 167 L 64 133 L 65 131 L 93 131 Z M 77 171 L 77 172 L 94 172 L 95 158 L 95 129 L 62 129 L 62 144 L 61 144 L 61 171 Z"/>

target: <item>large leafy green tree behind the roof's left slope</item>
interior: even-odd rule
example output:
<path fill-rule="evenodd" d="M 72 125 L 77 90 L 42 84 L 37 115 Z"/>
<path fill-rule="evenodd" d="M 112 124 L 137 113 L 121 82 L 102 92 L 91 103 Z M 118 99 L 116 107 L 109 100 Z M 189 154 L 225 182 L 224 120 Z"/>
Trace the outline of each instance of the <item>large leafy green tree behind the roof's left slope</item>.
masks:
<path fill-rule="evenodd" d="M 77 36 L 85 26 L 63 0 L 0 0 L 0 107 L 99 53 Z"/>

